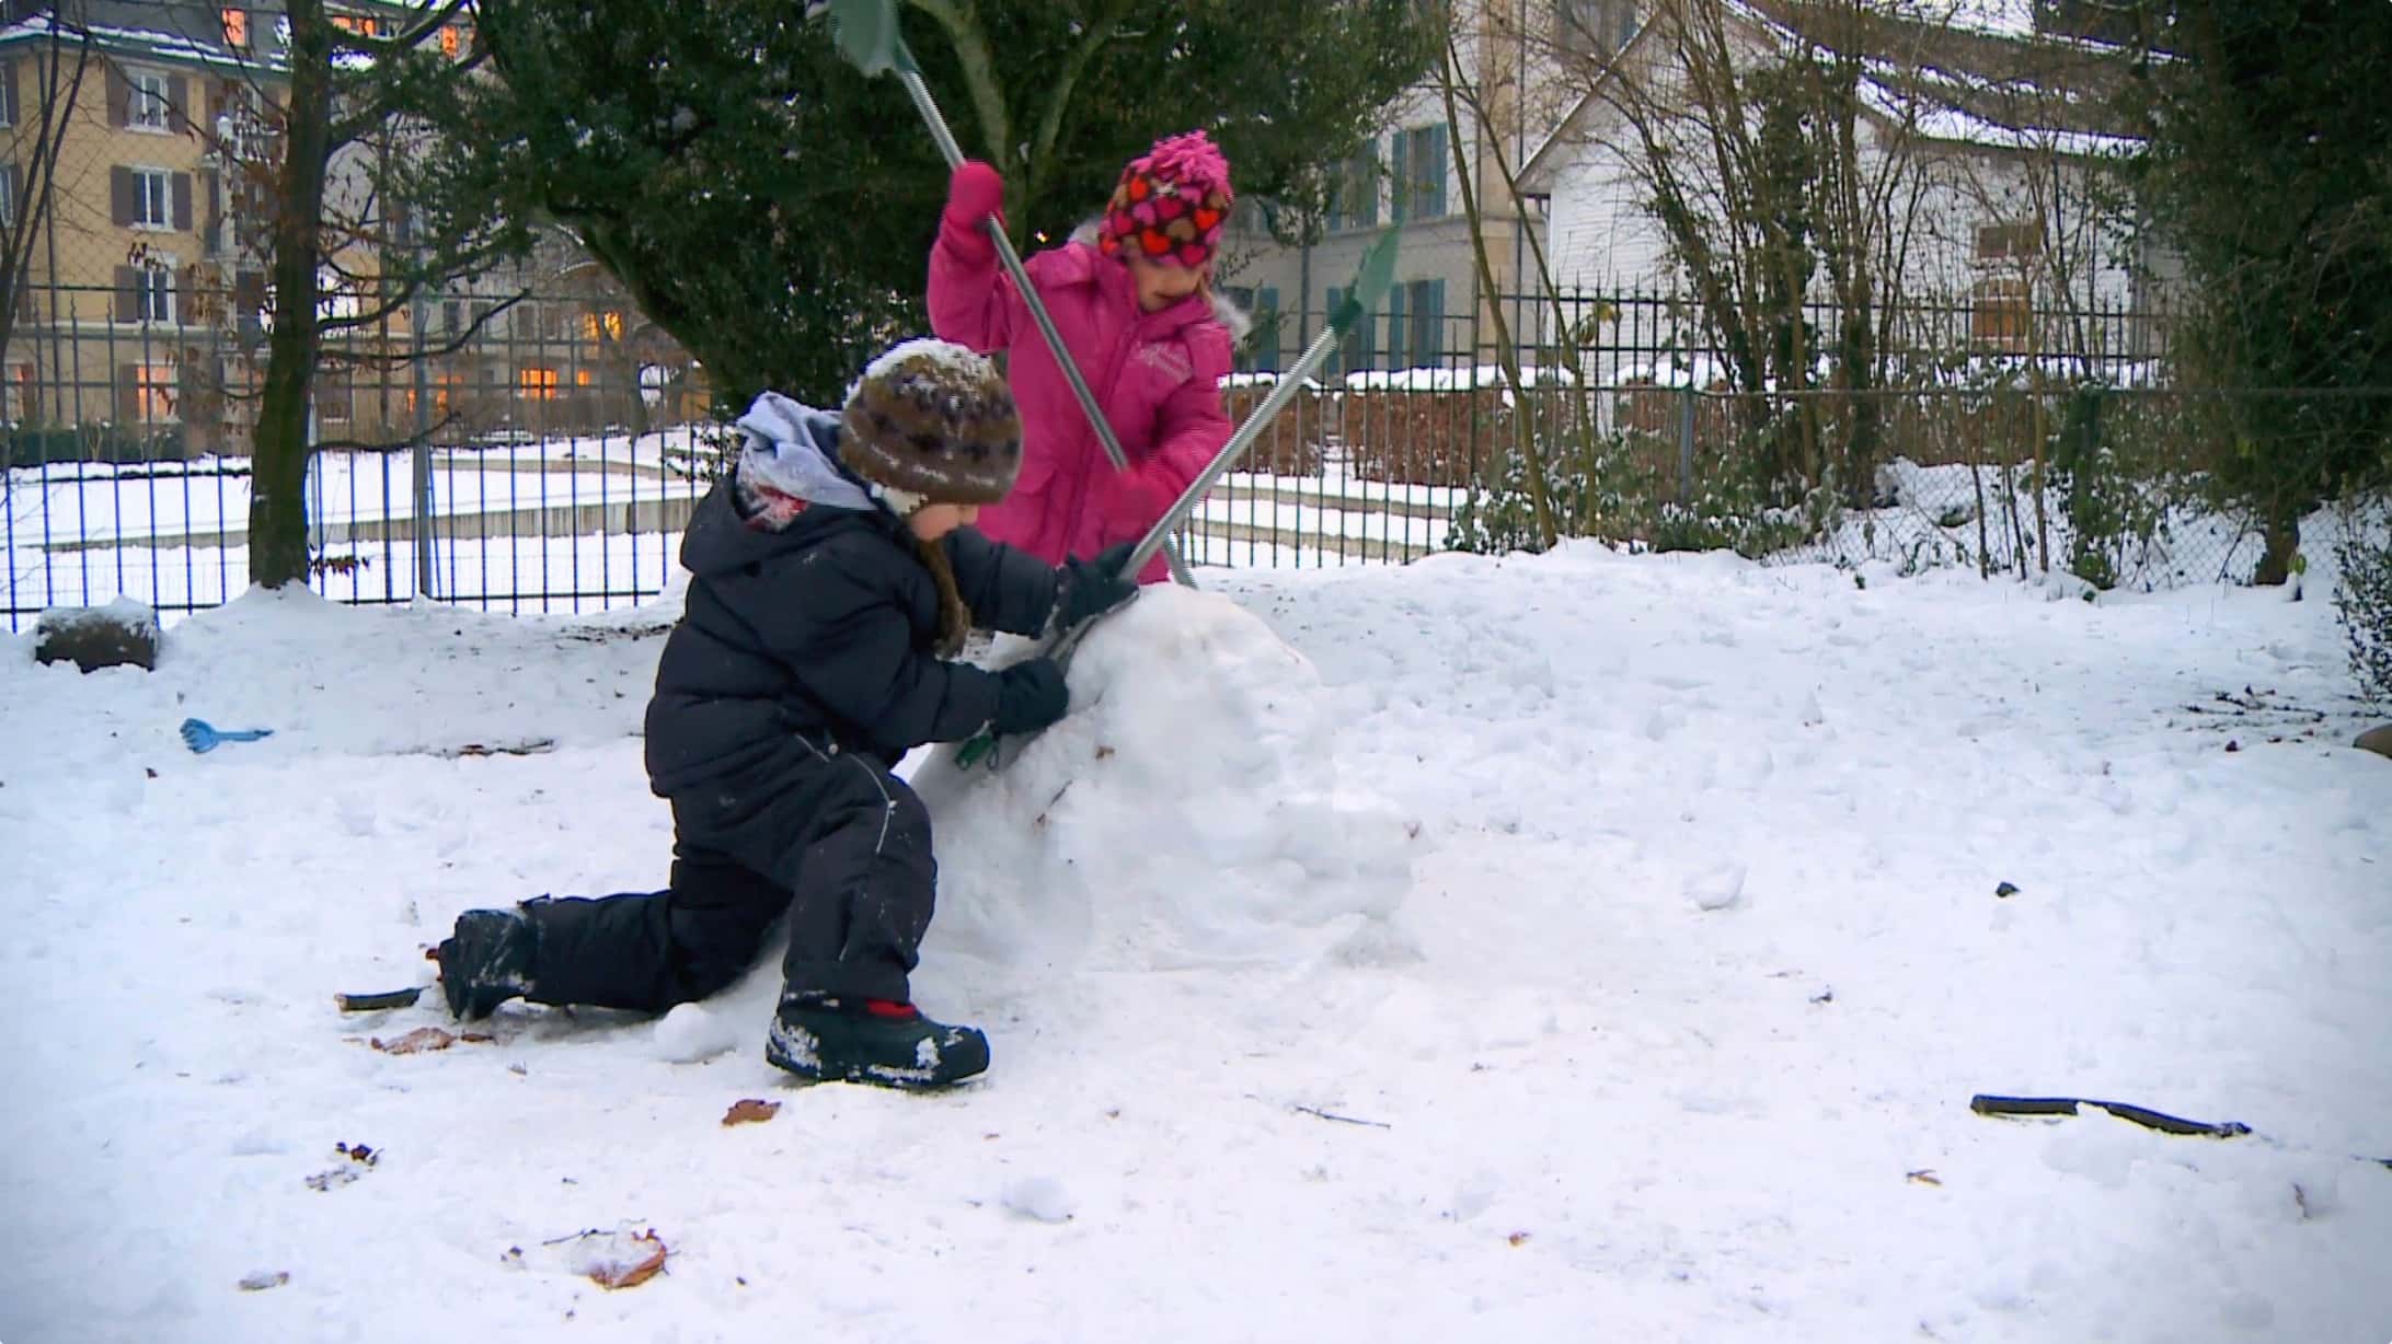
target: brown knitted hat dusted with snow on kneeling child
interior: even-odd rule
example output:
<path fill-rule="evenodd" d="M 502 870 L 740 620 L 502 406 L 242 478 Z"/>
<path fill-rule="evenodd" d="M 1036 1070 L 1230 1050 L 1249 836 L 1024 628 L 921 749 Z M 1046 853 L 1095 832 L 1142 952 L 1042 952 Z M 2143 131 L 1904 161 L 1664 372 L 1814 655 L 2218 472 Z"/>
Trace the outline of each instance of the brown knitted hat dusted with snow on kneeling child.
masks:
<path fill-rule="evenodd" d="M 840 462 L 933 505 L 995 505 L 1021 471 L 1021 414 L 988 359 L 909 340 L 847 395 Z"/>

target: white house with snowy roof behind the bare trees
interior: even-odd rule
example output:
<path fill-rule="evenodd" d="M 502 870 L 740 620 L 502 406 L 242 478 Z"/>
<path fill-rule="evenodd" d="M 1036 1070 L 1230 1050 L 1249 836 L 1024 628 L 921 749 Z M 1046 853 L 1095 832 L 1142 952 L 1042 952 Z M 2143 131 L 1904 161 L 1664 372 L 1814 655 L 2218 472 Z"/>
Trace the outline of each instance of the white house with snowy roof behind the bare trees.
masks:
<path fill-rule="evenodd" d="M 1703 31 L 1725 38 L 1741 72 L 1825 45 L 1818 14 L 1827 10 L 1708 0 L 1701 14 L 1717 22 Z M 1832 10 L 1851 14 L 1849 5 Z M 2033 19 L 2024 0 L 1966 0 L 1935 24 L 1892 7 L 1873 17 L 1871 50 L 1856 53 L 1856 141 L 1859 177 L 1880 194 L 1871 234 L 1880 277 L 1918 330 L 1935 328 L 1921 340 L 2148 354 L 2150 325 L 2124 313 L 2146 308 L 2170 268 L 2136 230 L 2112 175 L 2136 141 L 2100 100 L 2115 69 L 2110 48 Z M 1653 151 L 1629 108 L 1670 170 L 1705 177 L 1713 136 L 1701 115 L 1653 115 L 1684 88 L 1684 33 L 1677 17 L 1643 14 L 1617 60 L 1581 81 L 1576 105 L 1521 172 L 1521 191 L 1548 201 L 1552 273 L 1564 292 L 1679 289 L 1653 210 Z M 1820 285 L 1813 280 L 1816 297 L 1825 297 Z"/>

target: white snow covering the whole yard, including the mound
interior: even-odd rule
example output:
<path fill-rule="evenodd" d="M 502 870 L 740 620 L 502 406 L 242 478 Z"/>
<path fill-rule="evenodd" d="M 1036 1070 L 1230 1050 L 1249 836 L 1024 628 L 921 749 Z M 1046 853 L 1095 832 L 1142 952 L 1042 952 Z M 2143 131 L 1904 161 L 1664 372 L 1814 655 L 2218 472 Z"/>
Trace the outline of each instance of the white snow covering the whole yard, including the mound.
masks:
<path fill-rule="evenodd" d="M 2392 770 L 2323 564 L 1859 579 L 1141 598 L 940 804 L 916 995 L 993 1043 L 942 1095 L 789 1086 L 770 961 L 416 1055 L 371 1040 L 435 1002 L 335 1012 L 462 909 L 663 880 L 677 593 L 249 593 L 155 672 L 0 636 L 0 1339 L 2387 1337 Z"/>

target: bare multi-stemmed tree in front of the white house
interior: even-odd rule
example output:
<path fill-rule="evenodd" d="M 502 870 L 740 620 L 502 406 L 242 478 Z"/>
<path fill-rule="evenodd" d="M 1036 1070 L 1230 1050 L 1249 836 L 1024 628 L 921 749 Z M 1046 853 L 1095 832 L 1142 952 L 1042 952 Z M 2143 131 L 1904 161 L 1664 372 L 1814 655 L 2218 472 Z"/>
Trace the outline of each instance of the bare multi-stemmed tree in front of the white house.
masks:
<path fill-rule="evenodd" d="M 1624 50 L 1557 53 L 1725 361 L 1758 483 L 1866 497 L 1926 191 L 1916 79 L 1949 0 L 1658 0 Z M 1811 320 L 1830 316 L 1827 330 Z M 1825 390 L 1823 399 L 1813 392 Z"/>

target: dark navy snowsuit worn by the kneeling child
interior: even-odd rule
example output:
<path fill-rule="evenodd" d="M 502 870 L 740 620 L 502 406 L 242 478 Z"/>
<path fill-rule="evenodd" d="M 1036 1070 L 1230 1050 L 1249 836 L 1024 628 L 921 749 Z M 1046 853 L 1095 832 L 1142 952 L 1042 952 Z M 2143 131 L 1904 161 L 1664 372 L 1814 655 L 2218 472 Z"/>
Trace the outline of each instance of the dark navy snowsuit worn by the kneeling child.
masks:
<path fill-rule="evenodd" d="M 890 768 L 978 732 L 997 677 L 933 653 L 938 584 L 895 514 L 813 505 L 761 531 L 734 497 L 725 476 L 689 521 L 689 603 L 648 701 L 672 887 L 526 902 L 536 1002 L 703 1000 L 753 966 L 782 911 L 789 992 L 907 1002 L 938 866 L 930 815 Z M 976 627 L 1041 631 L 1045 562 L 974 529 L 942 545 Z"/>

